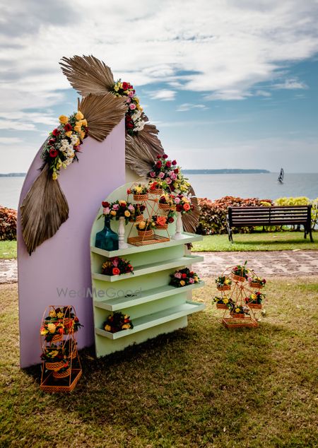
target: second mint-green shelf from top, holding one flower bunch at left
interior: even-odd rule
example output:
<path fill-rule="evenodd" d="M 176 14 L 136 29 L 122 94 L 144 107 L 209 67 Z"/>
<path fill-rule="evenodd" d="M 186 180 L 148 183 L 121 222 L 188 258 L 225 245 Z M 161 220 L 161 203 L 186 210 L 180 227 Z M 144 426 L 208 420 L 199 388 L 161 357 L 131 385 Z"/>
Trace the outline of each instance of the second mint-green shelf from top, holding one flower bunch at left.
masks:
<path fill-rule="evenodd" d="M 134 274 L 123 273 L 120 276 L 105 276 L 105 274 L 102 273 L 92 273 L 92 278 L 94 278 L 95 280 L 114 282 L 125 280 L 126 278 L 143 276 L 148 273 L 165 271 L 166 269 L 178 268 L 180 266 L 189 266 L 190 264 L 199 263 L 200 261 L 204 261 L 204 257 L 201 257 L 199 255 L 185 255 L 184 257 L 167 260 L 164 262 L 156 261 L 155 263 L 136 266 L 136 268 L 134 269 Z"/>

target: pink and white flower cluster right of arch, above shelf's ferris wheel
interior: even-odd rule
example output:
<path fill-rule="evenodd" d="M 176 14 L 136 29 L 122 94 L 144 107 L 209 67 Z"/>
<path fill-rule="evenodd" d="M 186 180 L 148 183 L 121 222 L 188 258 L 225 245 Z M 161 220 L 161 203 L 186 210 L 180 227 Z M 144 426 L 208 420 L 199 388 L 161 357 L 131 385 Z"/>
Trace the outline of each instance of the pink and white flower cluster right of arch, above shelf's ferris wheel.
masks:
<path fill-rule="evenodd" d="M 181 168 L 177 166 L 177 160 L 168 159 L 167 154 L 157 155 L 157 159 L 148 177 L 159 179 L 165 191 L 175 191 L 177 194 L 187 193 L 190 184 L 182 175 Z"/>

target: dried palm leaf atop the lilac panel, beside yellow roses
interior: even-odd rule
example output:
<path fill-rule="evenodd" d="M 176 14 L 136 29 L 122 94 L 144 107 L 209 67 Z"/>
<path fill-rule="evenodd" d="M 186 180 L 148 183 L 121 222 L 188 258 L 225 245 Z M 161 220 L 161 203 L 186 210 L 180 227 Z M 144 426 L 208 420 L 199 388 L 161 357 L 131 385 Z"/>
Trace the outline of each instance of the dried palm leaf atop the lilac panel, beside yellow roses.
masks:
<path fill-rule="evenodd" d="M 124 98 L 112 93 L 88 95 L 78 107 L 88 121 L 88 134 L 97 141 L 103 141 L 125 116 L 127 107 Z"/>

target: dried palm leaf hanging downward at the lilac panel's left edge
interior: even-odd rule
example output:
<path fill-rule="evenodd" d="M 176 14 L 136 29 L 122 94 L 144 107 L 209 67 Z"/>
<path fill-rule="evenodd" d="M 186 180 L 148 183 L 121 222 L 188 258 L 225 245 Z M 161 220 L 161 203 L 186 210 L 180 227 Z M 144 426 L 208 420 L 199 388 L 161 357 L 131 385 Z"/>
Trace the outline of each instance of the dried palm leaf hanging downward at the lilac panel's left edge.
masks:
<path fill-rule="evenodd" d="M 33 182 L 20 210 L 23 239 L 29 254 L 55 235 L 69 218 L 69 204 L 59 181 L 49 175 L 47 165 Z"/>

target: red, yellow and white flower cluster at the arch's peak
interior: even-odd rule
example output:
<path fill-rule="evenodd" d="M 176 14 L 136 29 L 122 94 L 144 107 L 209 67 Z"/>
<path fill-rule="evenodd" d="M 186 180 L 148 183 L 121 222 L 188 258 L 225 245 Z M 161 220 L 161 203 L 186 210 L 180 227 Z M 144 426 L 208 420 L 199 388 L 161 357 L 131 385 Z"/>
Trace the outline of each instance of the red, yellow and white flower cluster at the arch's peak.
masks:
<path fill-rule="evenodd" d="M 130 83 L 122 82 L 119 79 L 110 89 L 113 95 L 117 97 L 125 97 L 127 112 L 125 116 L 126 133 L 134 136 L 143 130 L 146 122 L 142 117 L 143 108 L 139 104 L 139 98 L 136 96 L 134 86 Z"/>

